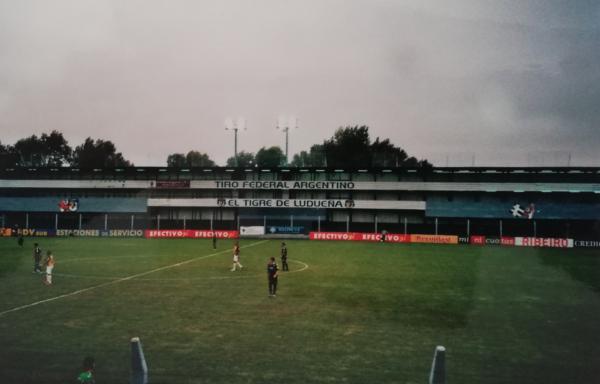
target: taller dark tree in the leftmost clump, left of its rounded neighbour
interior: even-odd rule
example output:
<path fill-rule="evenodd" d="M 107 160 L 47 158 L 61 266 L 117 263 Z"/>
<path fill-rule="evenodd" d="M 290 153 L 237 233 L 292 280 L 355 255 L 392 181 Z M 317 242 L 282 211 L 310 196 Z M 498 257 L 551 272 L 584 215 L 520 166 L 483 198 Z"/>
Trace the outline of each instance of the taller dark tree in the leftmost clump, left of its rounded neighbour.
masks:
<path fill-rule="evenodd" d="M 31 135 L 17 141 L 13 148 L 18 165 L 23 167 L 61 167 L 71 160 L 72 149 L 58 131 L 43 133 L 39 138 Z"/>

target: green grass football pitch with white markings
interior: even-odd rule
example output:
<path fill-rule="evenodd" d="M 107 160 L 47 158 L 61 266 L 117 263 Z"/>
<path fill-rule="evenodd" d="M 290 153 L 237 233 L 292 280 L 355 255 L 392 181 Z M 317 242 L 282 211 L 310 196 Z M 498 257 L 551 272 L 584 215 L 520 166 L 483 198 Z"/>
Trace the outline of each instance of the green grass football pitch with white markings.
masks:
<path fill-rule="evenodd" d="M 273 240 L 241 242 L 242 272 L 230 241 L 37 241 L 52 287 L 33 239 L 0 240 L 0 383 L 71 383 L 88 354 L 126 383 L 133 336 L 155 384 L 425 383 L 436 345 L 449 383 L 600 377 L 594 250 L 289 241 L 269 298 Z"/>

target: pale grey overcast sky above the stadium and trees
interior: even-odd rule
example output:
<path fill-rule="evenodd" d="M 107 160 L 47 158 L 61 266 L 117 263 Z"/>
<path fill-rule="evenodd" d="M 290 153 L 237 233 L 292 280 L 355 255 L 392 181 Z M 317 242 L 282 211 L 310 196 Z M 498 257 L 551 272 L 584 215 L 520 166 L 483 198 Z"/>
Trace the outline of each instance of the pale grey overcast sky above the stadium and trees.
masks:
<path fill-rule="evenodd" d="M 0 0 L 0 141 L 136 165 L 370 127 L 436 165 L 600 166 L 596 0 Z"/>

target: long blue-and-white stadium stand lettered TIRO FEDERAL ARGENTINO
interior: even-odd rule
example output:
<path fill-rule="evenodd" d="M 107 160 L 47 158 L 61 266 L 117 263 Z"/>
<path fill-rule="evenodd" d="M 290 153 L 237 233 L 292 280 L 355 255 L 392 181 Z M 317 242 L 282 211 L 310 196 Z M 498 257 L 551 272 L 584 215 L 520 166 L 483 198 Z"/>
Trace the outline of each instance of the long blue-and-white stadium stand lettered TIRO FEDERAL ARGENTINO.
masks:
<path fill-rule="evenodd" d="M 25 234 L 259 226 L 597 242 L 600 168 L 5 169 L 0 220 Z"/>

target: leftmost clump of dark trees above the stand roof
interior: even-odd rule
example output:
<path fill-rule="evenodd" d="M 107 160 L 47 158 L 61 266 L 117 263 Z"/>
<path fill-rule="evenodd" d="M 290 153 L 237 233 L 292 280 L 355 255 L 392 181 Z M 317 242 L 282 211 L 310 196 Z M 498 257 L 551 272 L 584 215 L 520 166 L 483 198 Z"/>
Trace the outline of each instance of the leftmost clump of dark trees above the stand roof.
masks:
<path fill-rule="evenodd" d="M 117 152 L 111 141 L 85 139 L 75 149 L 69 146 L 63 134 L 52 131 L 40 137 L 32 135 L 14 145 L 0 142 L 0 167 L 80 167 L 116 168 L 131 167 L 123 154 Z"/>

